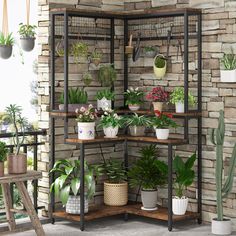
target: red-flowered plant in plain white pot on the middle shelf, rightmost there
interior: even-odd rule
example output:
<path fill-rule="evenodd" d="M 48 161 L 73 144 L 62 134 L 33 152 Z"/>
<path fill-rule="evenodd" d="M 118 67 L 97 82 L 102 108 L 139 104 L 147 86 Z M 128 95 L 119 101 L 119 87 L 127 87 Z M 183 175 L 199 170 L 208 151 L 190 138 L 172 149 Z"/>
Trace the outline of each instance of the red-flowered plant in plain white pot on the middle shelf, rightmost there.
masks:
<path fill-rule="evenodd" d="M 170 127 L 175 128 L 177 124 L 172 120 L 172 115 L 155 111 L 156 116 L 152 118 L 152 126 L 156 130 L 157 139 L 168 139 Z"/>

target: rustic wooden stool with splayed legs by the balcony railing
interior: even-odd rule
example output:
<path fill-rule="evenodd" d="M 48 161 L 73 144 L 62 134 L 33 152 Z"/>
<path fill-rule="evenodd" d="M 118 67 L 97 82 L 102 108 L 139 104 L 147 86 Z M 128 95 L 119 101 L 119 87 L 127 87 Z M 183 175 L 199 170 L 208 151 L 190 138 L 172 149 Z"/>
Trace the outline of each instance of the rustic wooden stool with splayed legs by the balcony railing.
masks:
<path fill-rule="evenodd" d="M 14 213 L 18 212 L 22 214 L 27 214 L 30 217 L 32 225 L 38 236 L 45 235 L 41 222 L 38 218 L 38 215 L 30 199 L 29 193 L 24 184 L 25 181 L 40 179 L 40 178 L 42 178 L 42 174 L 39 171 L 28 171 L 26 174 L 17 174 L 17 175 L 9 174 L 0 177 L 0 184 L 2 185 L 3 199 L 6 209 L 8 227 L 10 231 L 15 230 L 16 228 Z M 13 204 L 10 194 L 10 183 L 16 184 L 26 211 L 13 209 Z"/>

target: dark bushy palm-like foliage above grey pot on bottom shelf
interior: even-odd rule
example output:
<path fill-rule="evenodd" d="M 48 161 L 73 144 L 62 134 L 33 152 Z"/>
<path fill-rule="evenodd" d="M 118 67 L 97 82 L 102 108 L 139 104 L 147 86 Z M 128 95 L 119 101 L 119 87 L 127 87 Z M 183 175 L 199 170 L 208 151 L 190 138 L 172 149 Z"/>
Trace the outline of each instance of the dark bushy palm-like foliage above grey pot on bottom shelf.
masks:
<path fill-rule="evenodd" d="M 168 167 L 157 159 L 156 145 L 143 147 L 141 157 L 137 159 L 128 172 L 131 187 L 154 190 L 167 183 Z"/>

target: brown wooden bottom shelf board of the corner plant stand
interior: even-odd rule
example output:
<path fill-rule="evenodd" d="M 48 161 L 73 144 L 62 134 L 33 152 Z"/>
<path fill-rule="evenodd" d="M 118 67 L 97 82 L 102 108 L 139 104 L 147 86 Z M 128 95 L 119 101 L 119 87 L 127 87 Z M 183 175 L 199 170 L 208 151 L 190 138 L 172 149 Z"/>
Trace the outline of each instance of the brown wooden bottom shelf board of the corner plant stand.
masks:
<path fill-rule="evenodd" d="M 141 210 L 141 204 L 129 203 L 126 206 L 106 206 L 106 205 L 97 205 L 89 207 L 89 212 L 85 214 L 85 220 L 94 220 L 98 218 L 120 215 L 120 214 L 132 214 L 138 216 L 144 216 L 156 220 L 168 221 L 168 211 L 167 208 L 158 207 L 156 211 L 144 211 Z M 53 213 L 53 217 L 62 218 L 73 221 L 80 221 L 79 215 L 68 214 L 65 211 L 58 211 Z M 173 215 L 173 221 L 182 221 L 186 219 L 197 219 L 199 217 L 198 213 L 195 212 L 186 212 L 183 216 Z"/>

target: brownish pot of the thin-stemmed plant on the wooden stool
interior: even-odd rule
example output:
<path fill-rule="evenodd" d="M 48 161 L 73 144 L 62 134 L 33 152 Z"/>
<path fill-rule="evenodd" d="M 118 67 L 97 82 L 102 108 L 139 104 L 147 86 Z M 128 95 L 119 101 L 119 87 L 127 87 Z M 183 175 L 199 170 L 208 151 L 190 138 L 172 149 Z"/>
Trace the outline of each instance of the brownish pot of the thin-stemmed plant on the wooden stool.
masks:
<path fill-rule="evenodd" d="M 8 174 L 25 174 L 27 172 L 26 154 L 10 154 L 7 157 Z"/>

